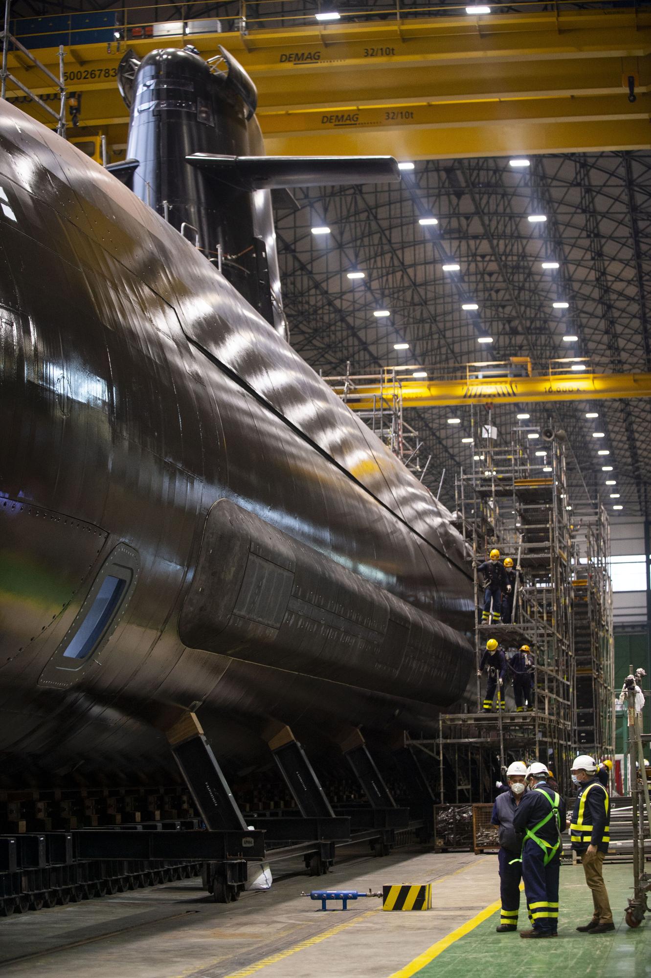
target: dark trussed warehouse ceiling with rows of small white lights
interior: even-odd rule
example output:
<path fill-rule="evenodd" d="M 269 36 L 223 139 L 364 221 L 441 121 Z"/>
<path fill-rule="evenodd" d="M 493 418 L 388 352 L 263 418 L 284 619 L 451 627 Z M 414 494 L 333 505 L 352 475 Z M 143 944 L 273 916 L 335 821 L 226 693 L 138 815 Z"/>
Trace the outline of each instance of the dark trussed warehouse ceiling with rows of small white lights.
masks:
<path fill-rule="evenodd" d="M 293 346 L 325 376 L 345 374 L 347 364 L 352 374 L 449 364 L 452 376 L 468 362 L 511 356 L 542 367 L 588 357 L 599 371 L 651 370 L 649 153 L 532 156 L 517 168 L 508 158 L 420 161 L 401 184 L 296 197 L 298 210 L 277 214 L 285 311 Z M 418 223 L 429 216 L 438 224 Z M 330 234 L 313 235 L 319 225 Z M 542 269 L 543 261 L 559 267 Z M 444 263 L 459 271 L 444 272 Z M 349 280 L 351 270 L 366 277 Z M 468 303 L 479 308 L 462 310 Z M 391 315 L 375 318 L 380 309 Z M 493 343 L 478 343 L 482 335 Z M 396 351 L 397 342 L 409 350 Z M 461 443 L 471 410 L 429 408 L 407 419 L 431 454 L 430 488 L 446 469 L 441 498 L 451 506 L 454 472 L 471 462 L 472 446 Z M 648 514 L 648 401 L 508 404 L 494 411 L 500 433 L 518 411 L 566 432 L 575 504 L 600 496 L 611 515 Z M 451 414 L 462 423 L 448 424 Z M 593 438 L 597 431 L 604 437 Z"/>

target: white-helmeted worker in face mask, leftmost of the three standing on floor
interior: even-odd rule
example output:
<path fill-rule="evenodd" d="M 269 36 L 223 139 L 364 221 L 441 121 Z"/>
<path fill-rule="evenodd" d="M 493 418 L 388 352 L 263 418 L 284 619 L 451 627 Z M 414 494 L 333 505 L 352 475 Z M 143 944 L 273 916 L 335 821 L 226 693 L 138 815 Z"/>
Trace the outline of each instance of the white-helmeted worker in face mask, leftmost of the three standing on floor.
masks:
<path fill-rule="evenodd" d="M 508 790 L 498 795 L 493 806 L 491 822 L 499 825 L 499 897 L 501 915 L 499 934 L 518 929 L 520 911 L 520 880 L 522 879 L 522 835 L 513 828 L 513 816 L 522 801 L 525 789 L 527 766 L 522 761 L 514 761 L 506 769 Z"/>

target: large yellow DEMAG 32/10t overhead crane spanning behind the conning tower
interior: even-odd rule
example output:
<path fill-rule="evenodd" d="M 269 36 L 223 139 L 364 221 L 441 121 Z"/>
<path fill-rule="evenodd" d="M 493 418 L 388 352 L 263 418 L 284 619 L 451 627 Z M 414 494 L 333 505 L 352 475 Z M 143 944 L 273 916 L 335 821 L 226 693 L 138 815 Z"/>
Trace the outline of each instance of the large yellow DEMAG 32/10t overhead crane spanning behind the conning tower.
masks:
<path fill-rule="evenodd" d="M 250 73 L 270 154 L 418 159 L 651 147 L 651 11 L 577 11 L 558 0 L 548 11 L 468 17 L 459 7 L 458 17 L 433 17 L 423 4 L 403 19 L 400 7 L 396 0 L 386 20 L 355 12 L 354 22 L 345 14 L 293 27 L 252 22 L 246 32 L 190 37 L 147 36 L 154 25 L 139 18 L 151 6 L 126 8 L 119 39 L 65 48 L 68 90 L 82 97 L 81 126 L 69 135 L 99 129 L 110 145 L 123 144 L 128 113 L 115 75 L 125 50 L 142 57 L 190 42 L 204 56 L 223 45 Z M 193 8 L 183 8 L 187 19 Z M 58 49 L 39 48 L 38 57 L 53 67 Z M 9 68 L 33 85 L 21 52 L 10 53 Z"/>

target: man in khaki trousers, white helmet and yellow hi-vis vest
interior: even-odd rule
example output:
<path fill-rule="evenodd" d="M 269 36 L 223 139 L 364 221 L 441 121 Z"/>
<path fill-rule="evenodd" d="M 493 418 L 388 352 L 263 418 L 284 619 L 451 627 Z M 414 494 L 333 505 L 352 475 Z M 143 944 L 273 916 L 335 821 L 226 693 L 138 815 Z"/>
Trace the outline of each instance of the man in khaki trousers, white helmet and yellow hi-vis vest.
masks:
<path fill-rule="evenodd" d="M 582 934 L 605 934 L 615 930 L 608 891 L 603 881 L 603 861 L 610 842 L 610 799 L 596 778 L 594 758 L 580 754 L 572 764 L 572 780 L 579 784 L 579 795 L 570 822 L 572 848 L 581 856 L 586 883 L 592 891 L 594 911 Z"/>

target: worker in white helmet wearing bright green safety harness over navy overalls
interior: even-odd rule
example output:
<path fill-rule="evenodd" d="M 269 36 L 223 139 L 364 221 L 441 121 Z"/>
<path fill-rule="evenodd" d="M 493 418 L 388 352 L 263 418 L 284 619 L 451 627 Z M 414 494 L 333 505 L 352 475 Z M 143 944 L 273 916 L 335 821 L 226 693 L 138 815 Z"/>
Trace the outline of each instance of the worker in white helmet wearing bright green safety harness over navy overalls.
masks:
<path fill-rule="evenodd" d="M 527 778 L 532 790 L 524 796 L 513 816 L 513 828 L 524 833 L 522 879 L 532 922 L 532 929 L 520 931 L 520 937 L 557 937 L 565 802 L 547 783 L 549 771 L 540 761 L 529 766 Z"/>

